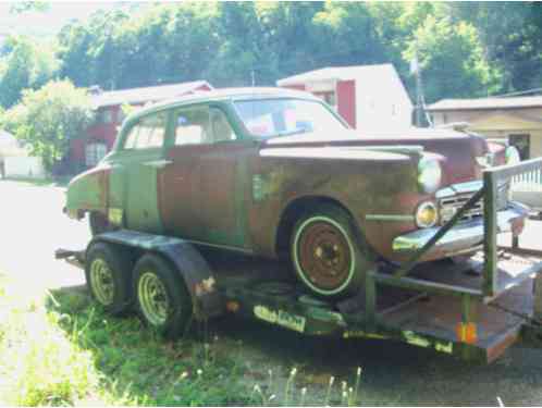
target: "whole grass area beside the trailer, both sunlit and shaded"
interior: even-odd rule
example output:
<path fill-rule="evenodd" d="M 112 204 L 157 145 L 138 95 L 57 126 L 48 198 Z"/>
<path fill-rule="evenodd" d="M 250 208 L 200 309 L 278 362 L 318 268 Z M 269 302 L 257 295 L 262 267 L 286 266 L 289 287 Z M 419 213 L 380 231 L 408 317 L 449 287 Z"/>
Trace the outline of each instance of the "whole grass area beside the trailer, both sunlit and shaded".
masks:
<path fill-rule="evenodd" d="M 0 277 L 0 405 L 267 406 L 310 400 L 297 369 L 284 378 L 270 370 L 268 378 L 255 379 L 242 342 L 219 338 L 206 326 L 193 329 L 185 338 L 165 342 L 135 317 L 106 314 L 83 288 L 28 294 L 23 283 Z M 359 378 L 357 382 L 359 386 Z M 355 405 L 352 388 L 344 394 L 332 385 L 325 401 L 319 397 L 317 405 Z"/>

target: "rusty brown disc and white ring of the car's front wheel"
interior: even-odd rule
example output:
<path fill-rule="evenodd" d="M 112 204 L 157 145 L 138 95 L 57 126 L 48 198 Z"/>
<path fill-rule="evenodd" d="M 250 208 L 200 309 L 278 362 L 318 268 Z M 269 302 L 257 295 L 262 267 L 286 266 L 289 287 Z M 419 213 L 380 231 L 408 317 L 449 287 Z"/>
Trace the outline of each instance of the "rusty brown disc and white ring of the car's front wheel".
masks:
<path fill-rule="evenodd" d="M 324 221 L 307 225 L 297 249 L 304 274 L 319 288 L 335 289 L 348 277 L 352 254 L 347 238 L 334 225 Z"/>

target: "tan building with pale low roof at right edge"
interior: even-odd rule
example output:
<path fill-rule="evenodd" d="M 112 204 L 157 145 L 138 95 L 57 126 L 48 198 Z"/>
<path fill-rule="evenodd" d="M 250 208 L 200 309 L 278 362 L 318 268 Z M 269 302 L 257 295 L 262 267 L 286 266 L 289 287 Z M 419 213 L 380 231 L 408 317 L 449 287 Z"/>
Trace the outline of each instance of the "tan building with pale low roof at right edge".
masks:
<path fill-rule="evenodd" d="M 465 122 L 469 131 L 516 146 L 522 160 L 542 157 L 542 96 L 443 99 L 428 111 L 436 126 Z"/>

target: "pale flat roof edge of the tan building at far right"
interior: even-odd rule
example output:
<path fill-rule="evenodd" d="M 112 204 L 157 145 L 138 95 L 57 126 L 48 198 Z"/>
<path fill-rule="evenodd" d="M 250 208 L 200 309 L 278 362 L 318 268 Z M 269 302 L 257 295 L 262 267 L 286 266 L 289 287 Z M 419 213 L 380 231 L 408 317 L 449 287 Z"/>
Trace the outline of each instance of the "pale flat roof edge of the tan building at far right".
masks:
<path fill-rule="evenodd" d="M 442 99 L 428 107 L 429 111 L 466 111 L 490 109 L 542 108 L 542 96 L 478 98 L 478 99 Z"/>

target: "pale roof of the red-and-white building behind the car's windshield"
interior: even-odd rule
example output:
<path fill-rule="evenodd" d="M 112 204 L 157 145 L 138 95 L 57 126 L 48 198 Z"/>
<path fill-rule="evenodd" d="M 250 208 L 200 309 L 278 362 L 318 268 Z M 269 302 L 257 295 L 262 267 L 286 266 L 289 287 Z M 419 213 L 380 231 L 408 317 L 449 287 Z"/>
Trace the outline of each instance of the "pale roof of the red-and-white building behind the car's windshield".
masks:
<path fill-rule="evenodd" d="M 397 75 L 392 64 L 328 66 L 279 79 L 276 85 L 301 85 L 310 82 L 348 81 L 355 78 L 367 78 L 378 82 L 387 79 L 390 75 Z"/>

